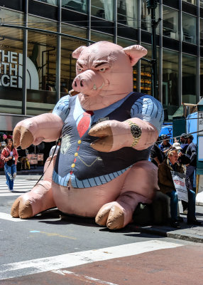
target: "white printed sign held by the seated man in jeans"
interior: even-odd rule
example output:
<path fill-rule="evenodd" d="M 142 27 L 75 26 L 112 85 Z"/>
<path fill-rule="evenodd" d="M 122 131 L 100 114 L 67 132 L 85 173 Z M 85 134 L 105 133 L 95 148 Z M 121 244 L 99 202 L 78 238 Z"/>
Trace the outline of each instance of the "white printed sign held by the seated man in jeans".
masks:
<path fill-rule="evenodd" d="M 185 185 L 185 175 L 183 173 L 178 173 L 175 171 L 171 171 L 171 174 L 178 199 L 188 202 L 187 187 Z"/>

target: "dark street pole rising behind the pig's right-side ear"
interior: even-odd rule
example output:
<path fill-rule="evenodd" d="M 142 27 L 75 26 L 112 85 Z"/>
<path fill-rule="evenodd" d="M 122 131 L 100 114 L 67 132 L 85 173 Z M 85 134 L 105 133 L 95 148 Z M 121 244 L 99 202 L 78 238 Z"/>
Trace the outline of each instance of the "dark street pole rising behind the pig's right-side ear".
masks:
<path fill-rule="evenodd" d="M 158 98 L 158 76 L 157 76 L 157 57 L 156 57 L 156 33 L 155 28 L 158 26 L 160 22 L 160 18 L 158 21 L 155 21 L 155 9 L 158 6 L 157 0 L 146 0 L 148 13 L 151 14 L 151 43 L 152 43 L 152 59 L 151 59 L 151 70 L 152 70 L 152 95 L 155 98 Z"/>

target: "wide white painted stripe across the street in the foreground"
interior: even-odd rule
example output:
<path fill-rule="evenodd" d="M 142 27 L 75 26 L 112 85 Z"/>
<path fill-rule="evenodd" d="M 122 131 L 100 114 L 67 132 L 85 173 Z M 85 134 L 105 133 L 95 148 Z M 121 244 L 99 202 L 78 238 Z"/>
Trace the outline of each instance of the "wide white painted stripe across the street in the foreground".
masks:
<path fill-rule="evenodd" d="M 0 280 L 26 276 L 45 271 L 65 269 L 72 266 L 88 264 L 94 261 L 104 261 L 121 257 L 130 257 L 144 252 L 152 252 L 158 249 L 170 249 L 182 247 L 183 244 L 150 240 L 148 242 L 136 242 L 133 244 L 122 244 L 116 247 L 106 247 L 104 249 L 93 249 L 86 252 L 72 252 L 55 257 L 45 257 L 41 259 L 26 260 L 3 264 L 0 269 Z"/>

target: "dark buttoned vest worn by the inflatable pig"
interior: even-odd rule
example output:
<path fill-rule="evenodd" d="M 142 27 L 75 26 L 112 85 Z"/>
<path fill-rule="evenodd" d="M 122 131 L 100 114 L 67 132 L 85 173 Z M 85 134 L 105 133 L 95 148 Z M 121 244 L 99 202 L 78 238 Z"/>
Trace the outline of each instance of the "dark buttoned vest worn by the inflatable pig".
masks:
<path fill-rule="evenodd" d="M 142 93 L 132 93 L 119 108 L 106 115 L 109 120 L 124 120 L 131 118 L 131 106 L 143 96 Z M 73 117 L 76 96 L 70 98 L 69 114 L 62 128 L 62 140 L 67 140 L 65 153 L 58 152 L 55 162 L 55 174 L 65 177 L 68 173 L 74 173 L 78 180 L 86 180 L 92 177 L 109 175 L 113 180 L 114 172 L 125 170 L 140 160 L 148 160 L 150 147 L 146 150 L 134 150 L 133 147 L 123 147 L 113 152 L 99 152 L 94 150 L 90 143 L 98 138 L 88 135 L 89 129 L 96 124 L 92 123 L 86 133 L 79 138 L 77 125 Z M 80 143 L 78 143 L 81 141 Z M 57 180 L 58 181 L 58 180 Z M 108 182 L 108 181 L 106 181 Z M 60 184 L 60 182 L 58 182 Z M 104 183 L 101 183 L 104 184 Z"/>

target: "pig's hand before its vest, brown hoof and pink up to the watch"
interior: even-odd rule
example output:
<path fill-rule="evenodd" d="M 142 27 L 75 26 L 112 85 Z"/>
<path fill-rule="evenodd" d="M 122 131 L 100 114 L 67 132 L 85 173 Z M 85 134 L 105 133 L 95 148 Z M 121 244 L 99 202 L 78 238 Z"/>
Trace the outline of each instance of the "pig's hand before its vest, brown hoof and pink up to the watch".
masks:
<path fill-rule="evenodd" d="M 101 152 L 119 150 L 121 147 L 131 146 L 133 142 L 129 125 L 117 120 L 106 120 L 94 125 L 89 130 L 89 135 L 99 137 L 91 143 L 91 146 Z"/>

